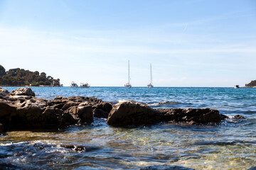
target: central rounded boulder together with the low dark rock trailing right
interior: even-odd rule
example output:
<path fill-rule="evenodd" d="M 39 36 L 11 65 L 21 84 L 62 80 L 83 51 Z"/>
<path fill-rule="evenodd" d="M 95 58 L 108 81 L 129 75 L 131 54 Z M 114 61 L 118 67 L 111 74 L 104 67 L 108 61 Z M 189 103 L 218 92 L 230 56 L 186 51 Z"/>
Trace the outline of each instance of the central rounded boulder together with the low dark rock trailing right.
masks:
<path fill-rule="evenodd" d="M 176 123 L 218 123 L 223 117 L 217 110 L 209 108 L 166 108 L 152 109 L 142 103 L 124 101 L 113 106 L 107 118 L 107 123 L 113 126 L 150 125 L 160 122 Z"/>

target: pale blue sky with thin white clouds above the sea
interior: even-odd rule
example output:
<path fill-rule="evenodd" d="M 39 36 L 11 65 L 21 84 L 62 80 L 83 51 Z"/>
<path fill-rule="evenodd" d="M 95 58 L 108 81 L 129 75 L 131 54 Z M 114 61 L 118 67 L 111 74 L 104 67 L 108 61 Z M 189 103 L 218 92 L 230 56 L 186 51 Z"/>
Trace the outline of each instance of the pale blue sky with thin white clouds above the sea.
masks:
<path fill-rule="evenodd" d="M 0 0 L 0 64 L 64 86 L 244 86 L 256 79 L 254 0 Z"/>

